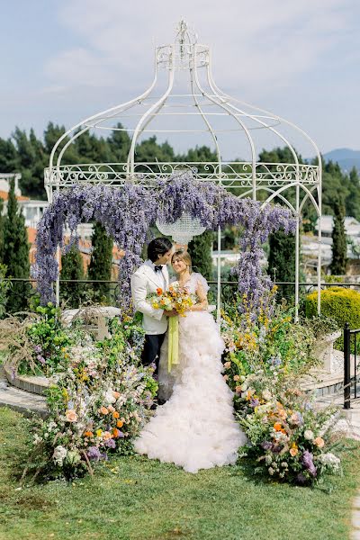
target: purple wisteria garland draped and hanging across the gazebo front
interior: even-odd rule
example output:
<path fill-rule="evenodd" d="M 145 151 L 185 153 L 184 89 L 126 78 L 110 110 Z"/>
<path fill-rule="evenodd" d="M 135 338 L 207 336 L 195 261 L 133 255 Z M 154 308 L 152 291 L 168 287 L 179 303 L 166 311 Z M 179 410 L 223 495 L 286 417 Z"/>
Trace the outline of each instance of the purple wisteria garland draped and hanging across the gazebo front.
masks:
<path fill-rule="evenodd" d="M 212 182 L 200 181 L 189 172 L 160 179 L 152 190 L 133 183 L 121 187 L 74 185 L 57 194 L 44 212 L 36 238 L 36 265 L 33 275 L 38 282 L 41 302 L 54 301 L 53 282 L 58 277 L 56 251 L 64 245 L 64 227 L 73 240 L 82 221 L 100 221 L 118 247 L 121 258 L 119 280 L 121 306 L 130 305 L 130 275 L 141 263 L 141 249 L 147 232 L 156 220 L 174 222 L 184 211 L 198 218 L 203 227 L 216 230 L 226 225 L 240 225 L 241 257 L 238 260 L 238 291 L 247 295 L 257 311 L 272 286 L 261 267 L 262 244 L 278 229 L 293 232 L 296 222 L 289 210 L 251 199 L 239 199 Z"/>

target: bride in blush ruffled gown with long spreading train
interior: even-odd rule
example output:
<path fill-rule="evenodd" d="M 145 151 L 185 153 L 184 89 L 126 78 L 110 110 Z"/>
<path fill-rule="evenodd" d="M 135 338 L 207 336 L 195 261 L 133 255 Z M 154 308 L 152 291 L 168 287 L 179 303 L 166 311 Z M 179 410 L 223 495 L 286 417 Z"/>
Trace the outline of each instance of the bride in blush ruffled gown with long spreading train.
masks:
<path fill-rule="evenodd" d="M 150 459 L 180 465 L 188 473 L 235 464 L 246 437 L 233 416 L 232 392 L 221 375 L 224 348 L 217 324 L 207 311 L 209 286 L 191 272 L 191 258 L 175 251 L 177 281 L 197 302 L 179 317 L 179 363 L 167 373 L 167 336 L 161 347 L 159 398 L 166 401 L 135 441 Z"/>

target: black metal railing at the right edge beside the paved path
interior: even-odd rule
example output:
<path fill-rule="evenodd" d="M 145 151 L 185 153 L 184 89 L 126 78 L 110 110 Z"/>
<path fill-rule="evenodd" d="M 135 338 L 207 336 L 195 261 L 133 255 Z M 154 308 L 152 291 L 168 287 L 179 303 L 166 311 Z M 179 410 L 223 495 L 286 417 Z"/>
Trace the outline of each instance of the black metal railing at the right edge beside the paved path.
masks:
<path fill-rule="evenodd" d="M 360 334 L 360 329 L 351 330 L 348 322 L 344 326 L 344 409 L 350 409 L 351 400 L 357 399 L 357 344 L 356 336 Z M 354 337 L 354 357 L 351 358 L 351 338 Z M 352 374 L 351 364 L 354 367 Z M 353 392 L 352 392 L 353 391 Z"/>

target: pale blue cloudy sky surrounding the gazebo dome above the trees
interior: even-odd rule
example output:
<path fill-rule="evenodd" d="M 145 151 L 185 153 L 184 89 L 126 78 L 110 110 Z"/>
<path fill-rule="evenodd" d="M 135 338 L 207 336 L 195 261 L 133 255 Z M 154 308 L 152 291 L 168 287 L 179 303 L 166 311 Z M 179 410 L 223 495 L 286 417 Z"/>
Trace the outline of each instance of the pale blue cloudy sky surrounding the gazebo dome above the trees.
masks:
<path fill-rule="evenodd" d="M 293 121 L 322 153 L 360 149 L 358 0 L 0 0 L 0 137 L 69 128 L 141 94 L 182 18 L 227 93 Z"/>

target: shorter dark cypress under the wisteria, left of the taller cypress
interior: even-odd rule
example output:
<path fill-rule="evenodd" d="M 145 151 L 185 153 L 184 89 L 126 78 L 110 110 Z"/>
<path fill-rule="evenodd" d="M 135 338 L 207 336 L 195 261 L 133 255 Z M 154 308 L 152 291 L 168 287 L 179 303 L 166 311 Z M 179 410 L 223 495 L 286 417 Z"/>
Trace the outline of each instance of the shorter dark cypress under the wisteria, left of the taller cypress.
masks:
<path fill-rule="evenodd" d="M 83 259 L 76 246 L 70 247 L 61 257 L 61 279 L 84 279 Z M 77 308 L 84 298 L 84 284 L 60 283 L 60 296 L 67 308 Z"/>

